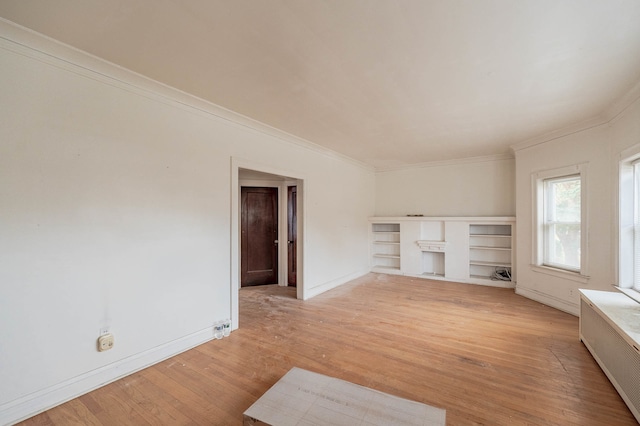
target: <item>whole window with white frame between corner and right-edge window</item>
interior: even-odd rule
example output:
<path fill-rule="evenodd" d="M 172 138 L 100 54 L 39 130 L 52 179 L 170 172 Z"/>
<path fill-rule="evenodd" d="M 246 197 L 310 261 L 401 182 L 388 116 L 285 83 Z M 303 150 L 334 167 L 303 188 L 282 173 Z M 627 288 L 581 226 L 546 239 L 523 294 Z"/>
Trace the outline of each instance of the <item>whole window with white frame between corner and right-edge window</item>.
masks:
<path fill-rule="evenodd" d="M 532 183 L 533 266 L 564 278 L 588 279 L 587 165 L 537 172 Z"/>

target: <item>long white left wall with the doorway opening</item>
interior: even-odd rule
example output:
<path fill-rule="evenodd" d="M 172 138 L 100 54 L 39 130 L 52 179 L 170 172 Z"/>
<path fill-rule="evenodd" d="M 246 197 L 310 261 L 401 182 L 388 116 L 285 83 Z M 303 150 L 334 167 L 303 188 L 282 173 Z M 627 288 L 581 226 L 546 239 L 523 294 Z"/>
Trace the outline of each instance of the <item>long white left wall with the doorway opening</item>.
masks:
<path fill-rule="evenodd" d="M 304 177 L 308 294 L 368 271 L 370 169 L 3 22 L 0 69 L 0 423 L 212 337 L 232 157 Z"/>

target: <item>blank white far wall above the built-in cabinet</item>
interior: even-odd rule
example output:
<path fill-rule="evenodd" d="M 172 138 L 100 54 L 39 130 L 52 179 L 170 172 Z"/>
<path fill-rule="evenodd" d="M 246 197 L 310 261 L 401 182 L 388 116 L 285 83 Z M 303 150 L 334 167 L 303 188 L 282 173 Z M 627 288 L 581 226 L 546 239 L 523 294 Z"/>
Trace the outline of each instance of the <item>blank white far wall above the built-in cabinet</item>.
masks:
<path fill-rule="evenodd" d="M 376 216 L 514 216 L 515 160 L 478 158 L 376 173 Z"/>

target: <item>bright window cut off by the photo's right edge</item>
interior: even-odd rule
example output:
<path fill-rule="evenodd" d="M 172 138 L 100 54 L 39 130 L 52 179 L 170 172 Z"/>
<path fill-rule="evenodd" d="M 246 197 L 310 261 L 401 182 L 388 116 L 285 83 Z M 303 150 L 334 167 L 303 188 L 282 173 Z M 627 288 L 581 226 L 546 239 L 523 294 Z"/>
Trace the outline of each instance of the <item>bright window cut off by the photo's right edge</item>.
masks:
<path fill-rule="evenodd" d="M 640 291 L 640 147 L 635 151 L 620 162 L 618 284 Z"/>

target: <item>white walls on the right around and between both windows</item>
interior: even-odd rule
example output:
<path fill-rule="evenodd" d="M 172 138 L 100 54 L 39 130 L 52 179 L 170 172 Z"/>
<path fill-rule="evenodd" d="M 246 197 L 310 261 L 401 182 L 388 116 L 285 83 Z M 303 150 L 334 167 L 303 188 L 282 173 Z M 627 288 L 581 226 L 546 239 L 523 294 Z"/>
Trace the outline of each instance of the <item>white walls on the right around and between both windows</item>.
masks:
<path fill-rule="evenodd" d="M 515 147 L 517 265 L 516 292 L 578 315 L 579 288 L 613 291 L 616 283 L 617 192 L 620 152 L 640 143 L 640 100 L 615 119 L 547 142 Z M 589 278 L 576 281 L 532 267 L 532 174 L 586 163 L 587 265 Z M 584 201 L 583 201 L 584 202 Z"/>

